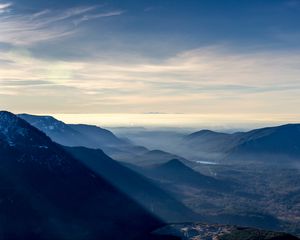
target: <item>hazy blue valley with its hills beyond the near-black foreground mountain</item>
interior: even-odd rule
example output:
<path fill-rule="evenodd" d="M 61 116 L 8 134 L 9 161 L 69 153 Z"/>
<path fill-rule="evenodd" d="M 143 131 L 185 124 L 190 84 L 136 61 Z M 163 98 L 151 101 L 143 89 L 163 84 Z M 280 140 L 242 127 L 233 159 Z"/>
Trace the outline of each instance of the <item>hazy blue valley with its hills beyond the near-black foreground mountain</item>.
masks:
<path fill-rule="evenodd" d="M 97 149 L 103 149 L 123 167 L 166 191 L 178 201 L 176 212 L 178 204 L 185 211 L 193 212 L 180 214 L 180 221 L 198 219 L 298 234 L 299 124 L 237 133 L 200 130 L 192 134 L 182 129 L 176 132 L 176 129 L 116 128 L 120 137 L 95 125 L 66 124 L 51 116 L 18 116 L 53 141 L 69 146 L 67 151 L 132 194 L 145 207 L 150 206 L 148 200 L 136 196 L 138 190 L 131 190 L 129 180 L 126 184 L 117 180 L 116 166 L 112 164 L 107 169 L 103 152 Z M 131 134 L 124 138 L 127 132 Z M 147 142 L 156 143 L 164 150 L 153 148 L 155 144 L 137 145 Z M 95 163 L 99 160 L 100 165 Z M 151 192 L 149 187 L 147 192 Z M 164 216 L 164 219 L 176 218 Z"/>

